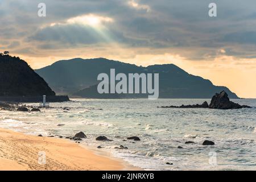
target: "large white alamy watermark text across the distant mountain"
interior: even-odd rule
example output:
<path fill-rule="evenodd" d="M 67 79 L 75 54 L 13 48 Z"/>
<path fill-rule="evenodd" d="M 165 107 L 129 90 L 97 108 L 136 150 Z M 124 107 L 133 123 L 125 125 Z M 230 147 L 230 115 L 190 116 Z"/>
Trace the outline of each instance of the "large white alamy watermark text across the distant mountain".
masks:
<path fill-rule="evenodd" d="M 97 77 L 97 90 L 100 94 L 149 94 L 148 99 L 156 100 L 159 96 L 159 73 L 154 73 L 154 84 L 152 73 L 129 73 L 128 78 L 125 73 L 115 75 L 115 69 L 110 69 L 110 78 L 106 73 L 100 73 Z M 117 84 L 115 84 L 115 82 Z M 109 88 L 110 87 L 110 88 Z"/>

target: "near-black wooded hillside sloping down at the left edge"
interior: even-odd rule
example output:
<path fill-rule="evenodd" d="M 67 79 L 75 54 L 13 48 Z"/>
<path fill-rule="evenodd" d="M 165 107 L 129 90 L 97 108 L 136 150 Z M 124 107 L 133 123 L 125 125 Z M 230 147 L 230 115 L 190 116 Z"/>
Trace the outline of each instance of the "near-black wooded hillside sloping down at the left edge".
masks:
<path fill-rule="evenodd" d="M 0 54 L 0 96 L 55 96 L 46 81 L 19 57 Z"/>

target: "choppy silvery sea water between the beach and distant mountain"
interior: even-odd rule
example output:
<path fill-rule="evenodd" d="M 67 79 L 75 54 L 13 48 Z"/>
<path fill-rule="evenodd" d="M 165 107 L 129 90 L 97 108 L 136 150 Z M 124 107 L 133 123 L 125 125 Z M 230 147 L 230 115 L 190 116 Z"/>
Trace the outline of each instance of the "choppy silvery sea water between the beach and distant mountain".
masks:
<path fill-rule="evenodd" d="M 0 111 L 0 127 L 63 137 L 83 131 L 88 138 L 82 145 L 101 146 L 98 150 L 147 170 L 256 170 L 256 100 L 233 100 L 253 106 L 238 110 L 158 108 L 204 101 L 73 99 L 40 113 Z M 96 141 L 100 135 L 113 141 Z M 127 140 L 133 136 L 141 141 Z M 204 140 L 215 145 L 203 146 Z M 128 149 L 115 148 L 120 145 Z"/>

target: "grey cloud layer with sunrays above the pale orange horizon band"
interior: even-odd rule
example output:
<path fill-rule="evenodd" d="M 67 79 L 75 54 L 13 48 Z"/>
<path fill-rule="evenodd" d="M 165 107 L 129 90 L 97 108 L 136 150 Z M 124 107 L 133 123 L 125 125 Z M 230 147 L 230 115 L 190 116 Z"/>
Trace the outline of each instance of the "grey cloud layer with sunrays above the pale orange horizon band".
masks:
<path fill-rule="evenodd" d="M 45 0 L 47 16 L 40 18 L 39 0 L 4 0 L 0 3 L 0 38 L 19 42 L 10 45 L 13 51 L 24 44 L 38 49 L 33 52 L 119 44 L 148 53 L 152 49 L 178 53 L 189 60 L 213 60 L 219 55 L 256 57 L 256 2 L 216 1 L 217 18 L 208 16 L 210 2 Z"/>

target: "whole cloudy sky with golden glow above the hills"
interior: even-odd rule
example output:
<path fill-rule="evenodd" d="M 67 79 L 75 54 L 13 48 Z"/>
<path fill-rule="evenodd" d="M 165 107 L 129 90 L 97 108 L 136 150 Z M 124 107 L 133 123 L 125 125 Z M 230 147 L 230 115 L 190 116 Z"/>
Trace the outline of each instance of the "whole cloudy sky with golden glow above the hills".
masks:
<path fill-rule="evenodd" d="M 216 3 L 217 17 L 208 15 Z M 38 4 L 46 4 L 46 17 Z M 38 69 L 75 57 L 175 64 L 256 98 L 255 0 L 0 0 L 0 52 Z"/>

